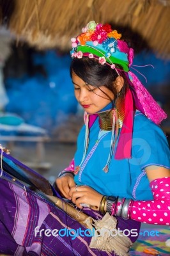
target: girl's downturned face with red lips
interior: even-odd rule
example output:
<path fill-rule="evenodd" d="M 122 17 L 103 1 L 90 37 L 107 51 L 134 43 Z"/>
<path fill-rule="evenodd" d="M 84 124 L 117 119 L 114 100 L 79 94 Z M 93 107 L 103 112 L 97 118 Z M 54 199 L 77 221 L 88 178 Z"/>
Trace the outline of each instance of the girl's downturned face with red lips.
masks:
<path fill-rule="evenodd" d="M 75 98 L 82 108 L 89 114 L 97 113 L 114 99 L 113 93 L 100 86 L 100 88 L 86 84 L 79 76 L 72 74 Z"/>

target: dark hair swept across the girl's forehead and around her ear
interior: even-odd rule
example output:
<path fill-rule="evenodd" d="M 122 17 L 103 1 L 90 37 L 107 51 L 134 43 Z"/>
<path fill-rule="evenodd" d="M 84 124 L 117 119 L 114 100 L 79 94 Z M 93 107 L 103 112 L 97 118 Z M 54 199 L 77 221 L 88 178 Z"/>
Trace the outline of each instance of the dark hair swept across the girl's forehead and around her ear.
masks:
<path fill-rule="evenodd" d="M 124 85 L 120 92 L 120 97 L 123 98 L 125 97 L 125 93 L 130 84 L 128 82 L 127 74 L 123 71 L 123 68 L 118 65 L 116 65 L 116 67 L 119 69 L 118 72 L 120 76 L 122 76 L 124 79 Z M 85 83 L 90 84 L 92 86 L 98 88 L 100 88 L 100 86 L 105 86 L 114 94 L 114 99 L 116 100 L 118 92 L 116 90 L 116 87 L 113 86 L 113 82 L 116 80 L 116 77 L 118 77 L 118 73 L 109 65 L 101 65 L 95 58 L 74 58 L 70 66 L 71 77 L 72 73 L 75 73 Z M 106 93 L 105 95 L 109 97 Z"/>

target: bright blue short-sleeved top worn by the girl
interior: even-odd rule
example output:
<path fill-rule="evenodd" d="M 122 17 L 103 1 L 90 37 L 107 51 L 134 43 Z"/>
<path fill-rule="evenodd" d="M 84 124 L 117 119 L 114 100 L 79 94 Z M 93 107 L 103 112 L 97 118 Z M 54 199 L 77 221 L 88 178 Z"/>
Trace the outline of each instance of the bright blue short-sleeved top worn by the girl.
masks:
<path fill-rule="evenodd" d="M 85 129 L 84 125 L 78 136 L 75 166 L 79 166 L 82 161 Z M 144 168 L 150 165 L 170 168 L 170 153 L 164 132 L 140 111 L 136 111 L 132 158 L 116 160 L 113 156 L 109 172 L 105 173 L 102 169 L 109 156 L 111 134 L 111 131 L 100 130 L 97 118 L 90 128 L 88 151 L 81 170 L 75 175 L 75 183 L 86 184 L 103 195 L 152 200 L 150 182 Z"/>

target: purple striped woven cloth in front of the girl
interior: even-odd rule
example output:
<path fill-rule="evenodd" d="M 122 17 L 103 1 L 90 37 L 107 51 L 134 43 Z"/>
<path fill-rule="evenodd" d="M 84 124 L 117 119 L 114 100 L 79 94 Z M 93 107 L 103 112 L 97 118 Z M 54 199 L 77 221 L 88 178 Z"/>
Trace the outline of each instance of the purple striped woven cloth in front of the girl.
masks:
<path fill-rule="evenodd" d="M 70 235 L 55 237 L 50 233 L 50 236 L 45 236 L 43 231 L 42 234 L 38 232 L 35 235 L 36 227 L 38 230 L 50 231 L 56 228 L 58 230 L 63 228 L 86 230 L 86 228 L 42 196 L 29 188 L 24 188 L 20 182 L 12 182 L 12 177 L 8 173 L 3 172 L 0 180 L 0 253 L 19 256 L 115 255 L 89 248 L 91 237 L 88 236 L 72 239 Z M 84 212 L 95 219 L 101 217 L 98 212 L 87 208 Z M 118 218 L 118 227 L 120 230 L 131 228 L 139 230 L 140 223 Z M 130 239 L 134 242 L 137 237 Z"/>

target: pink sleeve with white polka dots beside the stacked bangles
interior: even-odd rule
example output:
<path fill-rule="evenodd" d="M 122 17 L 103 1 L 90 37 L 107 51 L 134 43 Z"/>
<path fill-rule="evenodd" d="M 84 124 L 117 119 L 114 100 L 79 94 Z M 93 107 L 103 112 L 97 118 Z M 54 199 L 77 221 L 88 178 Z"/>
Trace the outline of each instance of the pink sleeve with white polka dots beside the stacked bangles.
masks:
<path fill-rule="evenodd" d="M 150 182 L 153 200 L 131 201 L 128 217 L 143 223 L 170 224 L 170 177 L 155 179 Z"/>

